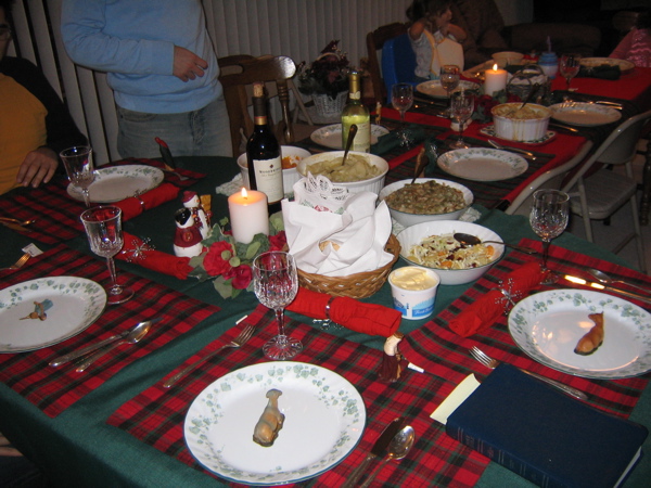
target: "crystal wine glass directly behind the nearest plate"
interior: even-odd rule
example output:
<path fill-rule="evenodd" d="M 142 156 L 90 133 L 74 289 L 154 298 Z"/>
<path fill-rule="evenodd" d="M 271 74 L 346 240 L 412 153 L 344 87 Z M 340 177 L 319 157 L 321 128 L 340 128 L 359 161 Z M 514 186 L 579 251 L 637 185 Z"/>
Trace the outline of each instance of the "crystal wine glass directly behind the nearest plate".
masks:
<path fill-rule="evenodd" d="M 298 293 L 296 261 L 289 253 L 271 251 L 263 253 L 253 261 L 253 285 L 260 303 L 276 311 L 278 335 L 263 347 L 269 359 L 292 359 L 303 350 L 301 341 L 288 337 L 284 330 L 284 308 Z"/>

